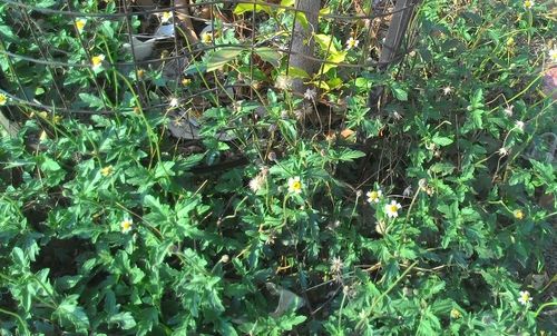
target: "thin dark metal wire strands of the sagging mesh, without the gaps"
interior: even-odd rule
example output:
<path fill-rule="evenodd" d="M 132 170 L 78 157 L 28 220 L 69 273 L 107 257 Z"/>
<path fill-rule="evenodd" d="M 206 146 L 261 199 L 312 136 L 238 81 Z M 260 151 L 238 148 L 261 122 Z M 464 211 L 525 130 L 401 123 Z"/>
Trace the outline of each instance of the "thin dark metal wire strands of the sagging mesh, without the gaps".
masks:
<path fill-rule="evenodd" d="M 26 16 L 26 18 L 29 17 L 29 12 L 26 12 L 27 11 L 36 11 L 36 12 L 40 12 L 40 13 L 45 13 L 45 14 L 61 14 L 61 16 L 68 16 L 68 17 L 71 17 L 71 20 L 74 21 L 74 27 L 76 29 L 76 33 L 77 33 L 77 38 L 79 39 L 79 42 L 81 43 L 81 47 L 82 49 L 85 50 L 85 55 L 86 55 L 86 62 L 84 63 L 77 63 L 77 62 L 65 62 L 65 61 L 61 61 L 61 60 L 55 60 L 55 58 L 49 55 L 48 52 L 48 48 L 47 50 L 45 50 L 41 45 L 39 43 L 39 37 L 36 36 L 35 31 L 32 31 L 32 38 L 35 39 L 36 43 L 38 45 L 38 48 L 39 48 L 39 56 L 40 58 L 35 58 L 35 57 L 31 57 L 31 56 L 27 56 L 27 55 L 19 55 L 17 52 L 12 52 L 12 51 L 8 51 L 3 43 L 1 45 L 2 48 L 0 48 L 0 55 L 4 55 L 8 60 L 9 60 L 9 65 L 11 65 L 12 69 L 13 69 L 13 63 L 12 63 L 12 59 L 19 59 L 19 60 L 22 60 L 22 61 L 28 61 L 28 62 L 31 62 L 31 63 L 36 63 L 36 65 L 45 65 L 47 66 L 47 70 L 51 73 L 51 77 L 53 78 L 53 67 L 62 67 L 62 68 L 92 68 L 92 63 L 91 63 L 91 55 L 81 37 L 81 34 L 79 33 L 78 29 L 77 29 L 77 26 L 76 26 L 76 19 L 78 17 L 80 18 L 101 18 L 101 19 L 105 19 L 105 20 L 117 20 L 117 19 L 124 19 L 125 20 L 125 23 L 126 23 L 126 30 L 127 30 L 127 36 L 128 36 L 128 42 L 130 45 L 130 49 L 131 49 L 131 55 L 133 55 L 133 61 L 131 62 L 104 62 L 104 67 L 106 69 L 110 69 L 110 67 L 113 67 L 110 70 L 114 70 L 114 71 L 118 71 L 118 69 L 120 67 L 133 67 L 134 70 L 135 70 L 135 75 L 136 75 L 136 79 L 137 81 L 135 82 L 135 90 L 137 91 L 137 95 L 139 96 L 140 98 L 140 103 L 141 103 L 141 108 L 144 110 L 150 110 L 150 109 L 163 109 L 163 108 L 166 108 L 167 105 L 165 103 L 162 103 L 162 105 L 149 105 L 149 98 L 148 98 L 148 95 L 147 95 L 147 91 L 146 91 L 146 88 L 145 86 L 141 87 L 140 86 L 140 80 L 139 80 L 139 69 L 140 67 L 144 67 L 144 66 L 150 66 L 150 65 L 154 65 L 154 66 L 159 66 L 159 67 L 164 67 L 164 65 L 166 62 L 170 62 L 170 61 L 175 61 L 178 63 L 178 68 L 180 69 L 179 72 L 175 73 L 176 77 L 176 87 L 175 87 L 175 91 L 177 91 L 178 89 L 178 81 L 179 81 L 179 78 L 180 78 L 180 73 L 182 72 L 182 68 L 183 68 L 183 63 L 186 61 L 186 60 L 189 60 L 189 65 L 192 66 L 192 62 L 194 62 L 196 59 L 198 59 L 201 56 L 204 55 L 204 52 L 208 51 L 208 50 L 216 50 L 216 49 L 226 49 L 226 48 L 234 48 L 237 50 L 237 48 L 243 48 L 245 49 L 245 51 L 248 51 L 250 52 L 250 81 L 244 81 L 244 83 L 235 83 L 235 85 L 229 85 L 229 83 L 226 83 L 224 82 L 222 86 L 219 85 L 218 87 L 215 87 L 215 88 L 207 88 L 206 90 L 199 90 L 198 92 L 194 92 L 193 95 L 189 95 L 187 97 L 179 97 L 180 101 L 185 101 L 185 100 L 188 100 L 188 99 L 193 99 L 195 97 L 199 97 L 199 96 L 204 96 L 204 95 L 215 95 L 215 93 L 218 93 L 219 91 L 222 91 L 223 89 L 228 89 L 228 88 L 233 88 L 233 89 L 236 89 L 236 88 L 245 88 L 245 87 L 248 87 L 250 88 L 250 97 L 253 98 L 253 90 L 254 90 L 254 87 L 253 87 L 253 82 L 254 82 L 254 55 L 256 53 L 256 48 L 258 47 L 271 47 L 273 50 L 276 50 L 281 53 L 284 53 L 284 55 L 289 55 L 289 56 L 297 56 L 300 58 L 303 58 L 303 59 L 306 59 L 306 60 L 311 60 L 313 62 L 316 62 L 320 65 L 320 70 L 319 72 L 321 73 L 322 72 L 322 69 L 323 69 L 323 65 L 334 65 L 339 68 L 349 68 L 349 69 L 353 69 L 353 70 L 361 70 L 361 69 L 377 69 L 377 68 L 384 68 L 387 67 L 388 65 L 390 65 L 391 62 L 397 62 L 398 60 L 400 60 L 401 58 L 403 58 L 407 53 L 407 50 L 402 50 L 402 52 L 398 52 L 397 55 L 394 55 L 393 58 L 391 58 L 389 61 L 385 61 L 385 62 L 382 62 L 382 61 L 368 61 L 368 58 L 365 57 L 365 55 L 368 55 L 368 41 L 364 42 L 364 48 L 365 50 L 363 50 L 362 52 L 362 58 L 360 60 L 359 63 L 349 63 L 349 62 L 334 62 L 334 61 L 330 61 L 330 60 L 326 60 L 329 53 L 330 53 L 330 48 L 332 46 L 332 39 L 331 39 L 331 43 L 330 46 L 328 47 L 328 50 L 325 52 L 325 56 L 324 58 L 317 58 L 317 57 L 314 57 L 314 56 L 311 56 L 311 55 L 304 55 L 304 53 L 300 53 L 300 52 L 294 52 L 292 51 L 292 38 L 290 39 L 289 41 L 289 45 L 286 48 L 284 47 L 278 47 L 278 46 L 274 46 L 273 43 L 273 39 L 270 38 L 270 39 L 264 39 L 260 42 L 257 42 L 257 36 L 256 36 L 256 32 L 257 32 L 257 27 L 256 27 L 256 16 L 255 16 L 255 12 L 256 12 L 256 6 L 262 6 L 262 3 L 260 1 L 243 1 L 243 0 L 217 0 L 217 1 L 206 1 L 206 2 L 201 2 L 201 3 L 188 3 L 188 4 L 183 4 L 183 6 L 176 6 L 175 1 L 173 0 L 172 1 L 172 4 L 170 7 L 165 7 L 165 8 L 149 8 L 149 9 L 145 9 L 145 10 L 141 10 L 141 11 L 134 11 L 131 7 L 129 7 L 127 4 L 127 1 L 126 0 L 123 0 L 120 3 L 121 3 L 121 8 L 120 8 L 120 11 L 119 12 L 116 12 L 116 13 L 102 13 L 102 12 L 92 12 L 92 13 L 87 13 L 87 12 L 81 12 L 81 11 L 78 11 L 76 10 L 75 8 L 72 8 L 71 6 L 71 0 L 67 0 L 65 1 L 67 3 L 67 9 L 68 10 L 56 10 L 56 9 L 50 9 L 50 8 L 39 8 L 39 7 L 36 7 L 36 6 L 32 6 L 32 4 L 27 4 L 27 3 L 23 3 L 23 2 L 20 2 L 21 0 L 0 0 L 0 3 L 6 3 L 8 6 L 11 6 L 11 7 L 14 7 L 14 8 L 18 8 L 19 10 L 21 10 L 23 12 L 23 14 Z M 407 1 L 408 2 L 408 1 Z M 375 19 L 375 18 L 385 18 L 388 16 L 392 16 L 392 14 L 395 14 L 395 13 L 399 13 L 399 12 L 403 12 L 405 13 L 405 11 L 413 11 L 413 8 L 416 7 L 417 2 L 419 1 L 411 1 L 411 3 L 409 6 L 404 6 L 402 8 L 400 8 L 399 6 L 399 9 L 397 10 L 391 10 L 391 11 L 382 11 L 382 12 L 372 12 L 371 10 L 371 6 L 370 6 L 370 10 L 367 14 L 354 14 L 354 16 L 345 16 L 345 14 L 339 14 L 340 10 L 341 10 L 341 7 L 339 7 L 339 9 L 334 10 L 333 13 L 328 13 L 328 14 L 319 14 L 319 18 L 320 19 L 330 19 L 330 20 L 333 20 L 333 21 L 358 21 L 358 20 L 372 20 L 372 19 Z M 251 18 L 251 22 L 248 20 L 237 20 L 237 21 L 234 21 L 233 24 L 231 23 L 227 23 L 227 24 L 231 24 L 231 26 L 236 26 L 236 27 L 244 27 L 246 24 L 252 24 L 252 36 L 251 36 L 251 43 L 247 42 L 247 43 L 228 43 L 228 45 L 217 45 L 215 42 L 215 33 L 216 33 L 216 23 L 215 23 L 215 17 L 214 17 L 214 9 L 216 8 L 217 4 L 238 4 L 238 3 L 245 3 L 245 4 L 253 4 L 253 9 L 252 9 L 252 18 Z M 296 1 L 296 4 L 297 4 L 297 1 Z M 203 20 L 203 19 L 199 19 L 195 16 L 190 16 L 192 12 L 190 11 L 187 11 L 187 10 L 192 10 L 193 8 L 196 8 L 196 7 L 206 7 L 206 6 L 209 6 L 211 7 L 211 20 Z M 303 9 L 300 9 L 297 8 L 297 6 L 295 8 L 293 7 L 286 7 L 286 6 L 281 6 L 281 4 L 275 4 L 275 3 L 265 3 L 263 6 L 267 6 L 268 8 L 274 8 L 274 9 L 283 9 L 283 10 L 287 10 L 290 12 L 302 12 L 302 13 L 310 13 L 309 10 L 303 10 Z M 134 52 L 134 40 L 136 37 L 136 34 L 134 34 L 134 29 L 133 29 L 133 24 L 131 24 L 131 18 L 135 17 L 135 16 L 149 16 L 149 14 L 157 14 L 157 13 L 162 13 L 162 12 L 168 12 L 170 11 L 172 14 L 173 14 L 173 18 L 176 18 L 176 11 L 177 10 L 182 10 L 180 11 L 180 16 L 182 17 L 185 17 L 185 18 L 192 18 L 192 19 L 196 19 L 196 20 L 199 20 L 199 21 L 205 21 L 205 22 L 211 22 L 213 29 L 212 29 L 212 36 L 213 36 L 213 39 L 212 39 L 212 43 L 211 45 L 202 45 L 202 47 L 197 47 L 196 49 L 192 49 L 192 46 L 189 46 L 189 41 L 186 39 L 186 43 L 187 43 L 187 49 L 184 50 L 184 48 L 180 48 L 180 50 L 178 50 L 178 39 L 177 39 L 177 32 L 174 34 L 174 56 L 170 56 L 170 57 L 163 57 L 163 58 L 152 58 L 152 59 L 144 59 L 144 60 L 138 60 L 136 58 L 136 55 Z M 294 29 L 295 29 L 295 24 L 296 24 L 296 18 L 297 16 L 294 16 L 294 22 L 292 24 L 292 31 L 291 31 L 291 37 L 294 36 Z M 29 23 L 29 18 L 28 18 L 28 24 Z M 179 29 L 179 27 L 177 27 L 175 20 L 173 20 L 173 24 L 174 24 L 174 28 L 175 28 L 175 31 L 177 31 Z M 242 24 L 242 26 L 241 26 Z M 335 30 L 336 28 L 333 26 L 333 31 Z M 371 24 L 370 24 L 370 29 L 371 29 Z M 369 32 L 367 34 L 367 40 L 369 39 Z M 271 45 L 271 46 L 270 46 Z M 62 51 L 65 52 L 65 51 Z M 47 55 L 48 53 L 48 55 Z M 67 52 L 68 53 L 68 52 Z M 286 62 L 290 62 L 290 58 L 286 60 Z M 286 72 L 289 71 L 289 66 L 286 65 Z M 42 103 L 42 102 L 39 102 L 37 100 L 31 100 L 28 96 L 27 96 L 27 92 L 26 90 L 23 89 L 23 86 L 21 85 L 20 80 L 19 80 L 19 77 L 17 76 L 17 73 L 12 73 L 16 79 L 17 79 L 17 82 L 18 82 L 18 86 L 20 88 L 20 91 L 21 93 L 20 95 L 23 95 L 25 99 L 20 98 L 20 97 L 16 97 L 14 95 L 11 95 L 9 92 L 6 92 L 4 90 L 1 90 L 0 89 L 0 92 L 4 92 L 8 97 L 10 97 L 10 99 L 12 99 L 13 101 L 17 101 L 19 103 L 26 103 L 28 106 L 31 106 L 31 107 L 35 107 L 35 108 L 40 108 L 40 109 L 45 109 L 45 110 L 55 110 L 56 111 L 60 111 L 60 112 L 75 112 L 75 113 L 113 113 L 114 111 L 108 108 L 108 106 L 106 105 L 107 102 L 105 101 L 104 97 L 106 97 L 106 92 L 104 91 L 104 89 L 101 89 L 99 82 L 98 82 L 98 79 L 95 77 L 95 76 L 91 76 L 91 80 L 94 81 L 94 85 L 97 89 L 97 93 L 99 95 L 99 98 L 100 100 L 102 101 L 104 103 L 104 109 L 100 110 L 100 111 L 94 111 L 94 110 L 82 110 L 82 109 L 74 109 L 74 108 L 69 108 L 67 102 L 69 102 L 70 100 L 66 100 L 63 99 L 63 95 L 61 93 L 61 89 L 58 87 L 58 83 L 55 82 L 55 89 L 58 91 L 59 96 L 60 96 L 60 99 L 61 99 L 61 102 L 63 105 L 63 108 L 61 107 L 51 107 L 49 105 L 46 105 L 46 103 Z M 286 73 L 287 75 L 287 73 Z M 215 73 L 215 80 L 218 80 L 218 78 L 216 77 L 216 73 Z M 320 76 L 320 81 L 321 81 L 321 76 Z M 228 96 L 228 95 L 227 95 Z M 219 98 L 218 98 L 218 95 L 215 96 L 216 97 L 216 100 L 215 101 L 219 101 Z"/>

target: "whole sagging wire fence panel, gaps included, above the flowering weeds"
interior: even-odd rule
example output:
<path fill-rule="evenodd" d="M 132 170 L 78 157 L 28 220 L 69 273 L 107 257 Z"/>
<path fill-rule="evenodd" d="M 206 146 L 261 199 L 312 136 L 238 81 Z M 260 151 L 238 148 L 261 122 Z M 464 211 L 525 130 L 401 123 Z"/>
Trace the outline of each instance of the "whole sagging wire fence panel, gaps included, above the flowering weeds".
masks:
<path fill-rule="evenodd" d="M 317 13 L 294 0 L 0 0 L 2 109 L 11 119 L 21 109 L 91 115 L 187 102 L 203 110 L 299 76 L 296 58 L 317 69 L 300 76 L 332 91 L 331 69 L 352 80 L 407 53 L 418 0 L 319 2 Z M 301 26 L 311 52 L 294 48 Z"/>

